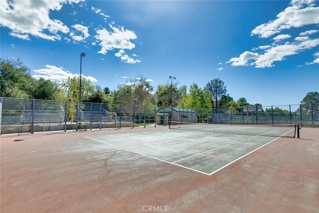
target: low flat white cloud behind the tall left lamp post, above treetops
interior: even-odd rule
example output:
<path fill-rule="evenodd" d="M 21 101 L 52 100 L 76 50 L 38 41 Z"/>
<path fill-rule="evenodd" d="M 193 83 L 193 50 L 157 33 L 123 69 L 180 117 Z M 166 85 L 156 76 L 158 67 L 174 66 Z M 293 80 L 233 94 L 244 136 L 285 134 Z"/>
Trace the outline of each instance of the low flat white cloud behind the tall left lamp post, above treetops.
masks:
<path fill-rule="evenodd" d="M 44 78 L 47 80 L 57 80 L 62 81 L 66 80 L 68 77 L 79 77 L 80 74 L 72 74 L 70 71 L 65 70 L 63 67 L 56 67 L 54 65 L 47 64 L 43 69 L 35 69 L 33 70 L 36 75 L 32 75 L 32 77 Z M 82 77 L 90 80 L 91 82 L 97 82 L 98 80 L 92 76 L 85 76 L 82 74 Z"/>

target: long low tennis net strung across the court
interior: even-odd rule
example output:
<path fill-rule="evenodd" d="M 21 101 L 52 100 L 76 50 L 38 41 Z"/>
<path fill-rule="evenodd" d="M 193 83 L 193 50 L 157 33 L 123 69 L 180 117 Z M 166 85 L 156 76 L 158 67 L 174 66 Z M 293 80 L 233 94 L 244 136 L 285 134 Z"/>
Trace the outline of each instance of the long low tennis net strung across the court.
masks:
<path fill-rule="evenodd" d="M 299 138 L 299 124 L 284 125 L 228 125 L 228 124 L 207 124 L 207 123 L 187 123 L 169 121 L 170 129 L 184 131 L 204 131 L 225 134 L 291 137 Z"/>

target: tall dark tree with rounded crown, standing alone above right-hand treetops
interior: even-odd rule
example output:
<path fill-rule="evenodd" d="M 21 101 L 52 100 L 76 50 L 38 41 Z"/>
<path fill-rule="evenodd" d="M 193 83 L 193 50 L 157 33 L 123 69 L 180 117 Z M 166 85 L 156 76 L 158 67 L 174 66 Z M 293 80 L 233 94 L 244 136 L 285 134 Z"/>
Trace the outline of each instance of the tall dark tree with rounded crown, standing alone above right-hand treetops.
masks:
<path fill-rule="evenodd" d="M 210 92 L 210 94 L 212 95 L 212 108 L 214 108 L 214 102 L 215 108 L 217 108 L 218 100 L 227 92 L 226 86 L 224 86 L 224 82 L 219 78 L 215 78 L 206 84 L 205 89 L 207 89 L 208 92 Z"/>

